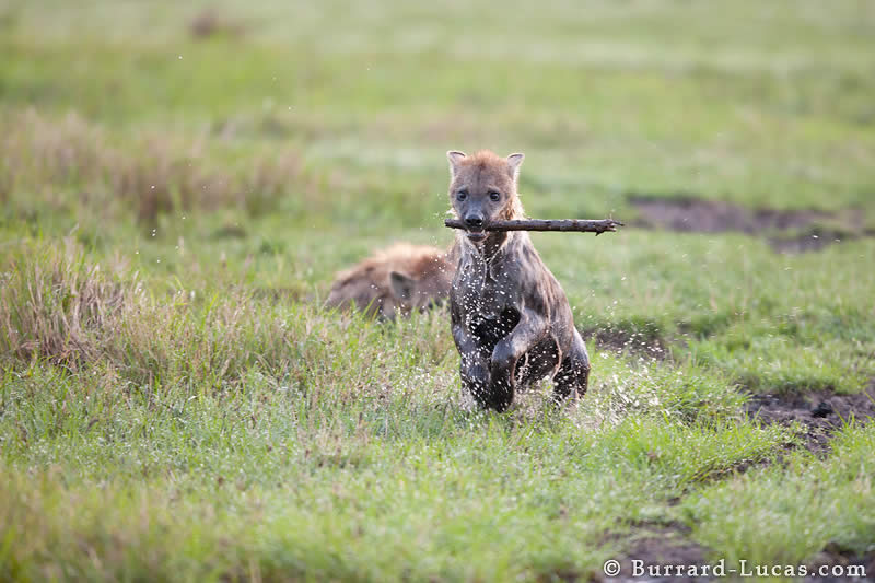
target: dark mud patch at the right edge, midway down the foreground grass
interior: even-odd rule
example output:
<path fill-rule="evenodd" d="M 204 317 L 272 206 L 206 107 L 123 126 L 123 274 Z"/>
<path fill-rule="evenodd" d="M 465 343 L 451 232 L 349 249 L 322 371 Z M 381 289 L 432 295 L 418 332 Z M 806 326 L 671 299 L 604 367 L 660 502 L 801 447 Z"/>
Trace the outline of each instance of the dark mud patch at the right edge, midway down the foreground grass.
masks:
<path fill-rule="evenodd" d="M 754 395 L 746 405 L 747 413 L 761 423 L 790 424 L 805 428 L 805 447 L 816 454 L 829 451 L 829 438 L 845 421 L 867 422 L 875 417 L 875 386 L 855 395 L 837 395 L 830 390 Z"/>

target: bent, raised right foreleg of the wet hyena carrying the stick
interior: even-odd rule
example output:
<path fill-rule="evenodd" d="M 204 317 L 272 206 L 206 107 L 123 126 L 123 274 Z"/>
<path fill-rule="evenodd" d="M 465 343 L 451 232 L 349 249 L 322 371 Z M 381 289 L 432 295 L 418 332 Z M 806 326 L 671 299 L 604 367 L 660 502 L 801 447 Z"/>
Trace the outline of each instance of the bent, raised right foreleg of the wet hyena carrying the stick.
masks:
<path fill-rule="evenodd" d="M 516 390 L 516 363 L 547 333 L 548 324 L 539 314 L 524 311 L 511 334 L 499 340 L 489 363 L 489 406 L 503 411 Z"/>

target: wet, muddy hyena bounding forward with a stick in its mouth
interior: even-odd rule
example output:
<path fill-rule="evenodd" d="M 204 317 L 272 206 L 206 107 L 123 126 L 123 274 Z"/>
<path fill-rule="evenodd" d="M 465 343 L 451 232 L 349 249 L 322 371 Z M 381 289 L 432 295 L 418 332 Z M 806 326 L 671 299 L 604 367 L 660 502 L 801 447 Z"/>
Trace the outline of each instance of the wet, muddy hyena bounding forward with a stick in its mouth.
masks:
<path fill-rule="evenodd" d="M 551 377 L 555 398 L 583 396 L 586 346 L 571 306 L 525 231 L 488 232 L 523 219 L 516 193 L 523 154 L 447 152 L 458 266 L 450 291 L 453 339 L 465 387 L 481 407 L 503 411 L 517 387 Z"/>

